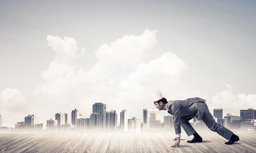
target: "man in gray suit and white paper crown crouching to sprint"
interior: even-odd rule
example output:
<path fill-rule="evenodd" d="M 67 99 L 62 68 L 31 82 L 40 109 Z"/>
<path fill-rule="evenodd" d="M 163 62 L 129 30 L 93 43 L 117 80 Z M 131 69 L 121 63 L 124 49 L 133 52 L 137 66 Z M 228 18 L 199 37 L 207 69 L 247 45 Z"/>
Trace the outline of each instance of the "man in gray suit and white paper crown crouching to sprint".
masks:
<path fill-rule="evenodd" d="M 176 133 L 176 142 L 172 147 L 180 147 L 180 126 L 184 129 L 188 136 L 194 135 L 192 140 L 188 143 L 202 142 L 202 137 L 196 133 L 195 129 L 189 123 L 189 120 L 196 117 L 198 120 L 203 120 L 206 126 L 211 131 L 217 132 L 228 140 L 225 142 L 227 145 L 232 145 L 234 142 L 239 141 L 239 137 L 234 135 L 232 131 L 216 123 L 204 99 L 201 98 L 188 98 L 186 100 L 168 101 L 163 97 L 161 91 L 156 91 L 154 94 L 154 104 L 160 110 L 168 110 L 168 113 L 173 115 L 174 129 Z"/>

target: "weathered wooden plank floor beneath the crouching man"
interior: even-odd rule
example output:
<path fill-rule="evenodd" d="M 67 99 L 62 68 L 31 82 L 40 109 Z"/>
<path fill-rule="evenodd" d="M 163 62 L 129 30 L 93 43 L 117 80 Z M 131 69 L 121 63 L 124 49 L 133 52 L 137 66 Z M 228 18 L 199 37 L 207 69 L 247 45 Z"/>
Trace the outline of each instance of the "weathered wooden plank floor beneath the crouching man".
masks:
<path fill-rule="evenodd" d="M 193 136 L 182 133 L 180 148 L 172 148 L 174 133 L 0 133 L 0 152 L 256 152 L 256 133 L 236 132 L 240 141 L 227 141 L 211 131 L 200 133 L 202 143 L 187 143 Z"/>

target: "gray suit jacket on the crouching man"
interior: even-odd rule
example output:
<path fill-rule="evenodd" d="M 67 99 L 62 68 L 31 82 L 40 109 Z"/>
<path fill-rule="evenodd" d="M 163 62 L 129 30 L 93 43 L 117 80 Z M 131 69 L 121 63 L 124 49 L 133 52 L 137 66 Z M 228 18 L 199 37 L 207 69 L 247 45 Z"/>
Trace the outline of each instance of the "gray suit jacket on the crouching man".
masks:
<path fill-rule="evenodd" d="M 166 108 L 173 115 L 174 129 L 176 134 L 180 134 L 180 117 L 195 116 L 198 120 L 202 120 L 204 115 L 205 105 L 198 105 L 205 103 L 205 99 L 188 98 L 186 100 L 168 101 Z"/>

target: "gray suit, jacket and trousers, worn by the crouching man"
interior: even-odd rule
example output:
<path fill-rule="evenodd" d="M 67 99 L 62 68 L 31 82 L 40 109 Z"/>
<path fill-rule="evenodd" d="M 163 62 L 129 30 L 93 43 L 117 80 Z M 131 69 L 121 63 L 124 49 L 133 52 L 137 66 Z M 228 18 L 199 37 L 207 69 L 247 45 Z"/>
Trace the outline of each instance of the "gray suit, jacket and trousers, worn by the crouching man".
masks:
<path fill-rule="evenodd" d="M 196 133 L 189 123 L 189 120 L 196 117 L 198 120 L 203 120 L 211 131 L 217 132 L 227 140 L 233 135 L 232 131 L 215 122 L 205 103 L 205 99 L 188 98 L 186 100 L 168 101 L 166 108 L 173 115 L 176 134 L 180 134 L 180 125 L 188 136 Z"/>

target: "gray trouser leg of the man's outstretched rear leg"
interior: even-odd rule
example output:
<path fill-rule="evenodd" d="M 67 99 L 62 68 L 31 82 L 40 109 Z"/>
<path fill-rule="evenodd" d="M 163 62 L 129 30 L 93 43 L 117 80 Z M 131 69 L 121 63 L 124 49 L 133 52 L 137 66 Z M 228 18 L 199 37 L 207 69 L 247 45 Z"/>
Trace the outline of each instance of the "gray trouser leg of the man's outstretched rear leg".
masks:
<path fill-rule="evenodd" d="M 233 132 L 224 126 L 221 126 L 221 124 L 216 123 L 209 112 L 208 106 L 206 104 L 205 106 L 206 108 L 202 120 L 205 122 L 206 126 L 211 129 L 211 131 L 217 132 L 219 135 L 223 136 L 223 138 L 229 140 L 233 135 Z"/>

